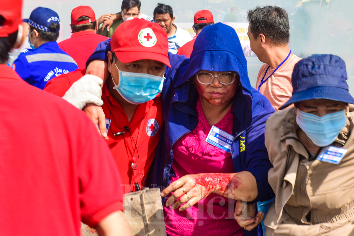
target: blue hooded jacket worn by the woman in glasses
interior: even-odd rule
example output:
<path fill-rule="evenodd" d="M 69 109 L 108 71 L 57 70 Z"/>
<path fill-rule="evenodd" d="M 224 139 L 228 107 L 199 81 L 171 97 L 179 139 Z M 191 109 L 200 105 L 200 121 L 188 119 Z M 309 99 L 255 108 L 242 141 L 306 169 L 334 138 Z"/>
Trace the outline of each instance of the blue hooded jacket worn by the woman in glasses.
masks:
<path fill-rule="evenodd" d="M 264 145 L 264 128 L 274 109 L 267 98 L 251 87 L 246 58 L 235 30 L 222 23 L 206 26 L 195 40 L 190 59 L 178 64 L 173 73 L 166 74 L 161 93 L 165 126 L 150 167 L 147 187 L 165 188 L 170 184 L 174 175 L 172 146 L 198 124 L 196 101 L 199 94 L 192 82 L 195 73 L 200 70 L 236 71 L 241 86 L 233 98 L 231 154 L 234 172 L 249 171 L 255 176 L 258 196 L 253 202 L 272 199 L 274 192 L 268 183 L 272 164 Z M 245 231 L 245 235 L 258 235 L 258 230 Z"/>

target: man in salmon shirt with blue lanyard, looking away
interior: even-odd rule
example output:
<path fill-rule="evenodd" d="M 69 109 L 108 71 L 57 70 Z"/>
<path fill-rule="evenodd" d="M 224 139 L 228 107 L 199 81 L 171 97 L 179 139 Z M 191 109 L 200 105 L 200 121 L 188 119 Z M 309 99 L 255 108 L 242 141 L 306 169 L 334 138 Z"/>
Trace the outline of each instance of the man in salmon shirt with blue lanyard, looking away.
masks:
<path fill-rule="evenodd" d="M 289 48 L 290 26 L 287 12 L 277 6 L 248 11 L 248 36 L 252 51 L 264 63 L 258 72 L 256 89 L 275 111 L 292 96 L 291 74 L 301 58 Z"/>

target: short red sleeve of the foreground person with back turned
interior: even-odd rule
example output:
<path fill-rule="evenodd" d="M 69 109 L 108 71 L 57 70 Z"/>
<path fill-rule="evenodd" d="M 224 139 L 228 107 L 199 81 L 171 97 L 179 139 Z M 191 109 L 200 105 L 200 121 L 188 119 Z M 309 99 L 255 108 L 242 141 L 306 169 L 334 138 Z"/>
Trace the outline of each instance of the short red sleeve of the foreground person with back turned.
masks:
<path fill-rule="evenodd" d="M 123 186 L 107 143 L 92 124 L 87 126 L 78 150 L 80 207 L 82 222 L 94 227 L 109 214 L 124 210 Z"/>

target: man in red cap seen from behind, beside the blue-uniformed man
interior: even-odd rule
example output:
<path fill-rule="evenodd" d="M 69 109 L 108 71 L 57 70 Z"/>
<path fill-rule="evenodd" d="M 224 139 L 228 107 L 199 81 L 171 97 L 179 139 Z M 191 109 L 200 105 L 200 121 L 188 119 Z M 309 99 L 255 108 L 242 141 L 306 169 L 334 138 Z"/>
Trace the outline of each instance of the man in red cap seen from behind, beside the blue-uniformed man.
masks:
<path fill-rule="evenodd" d="M 59 47 L 72 57 L 79 68 L 85 68 L 86 61 L 95 51 L 98 43 L 107 39 L 107 37 L 96 34 L 98 25 L 95 12 L 89 6 L 79 6 L 71 12 L 72 36 L 64 40 Z"/>

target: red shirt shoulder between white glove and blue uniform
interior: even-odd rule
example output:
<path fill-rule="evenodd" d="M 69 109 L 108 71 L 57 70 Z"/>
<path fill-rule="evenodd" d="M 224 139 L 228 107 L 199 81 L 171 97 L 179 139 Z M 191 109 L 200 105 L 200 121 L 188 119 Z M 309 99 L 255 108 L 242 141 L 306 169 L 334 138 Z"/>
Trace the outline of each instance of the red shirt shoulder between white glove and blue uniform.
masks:
<path fill-rule="evenodd" d="M 86 69 L 77 69 L 67 74 L 61 74 L 48 81 L 43 90 L 63 97 L 71 85 L 85 75 L 85 72 Z"/>

